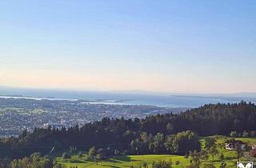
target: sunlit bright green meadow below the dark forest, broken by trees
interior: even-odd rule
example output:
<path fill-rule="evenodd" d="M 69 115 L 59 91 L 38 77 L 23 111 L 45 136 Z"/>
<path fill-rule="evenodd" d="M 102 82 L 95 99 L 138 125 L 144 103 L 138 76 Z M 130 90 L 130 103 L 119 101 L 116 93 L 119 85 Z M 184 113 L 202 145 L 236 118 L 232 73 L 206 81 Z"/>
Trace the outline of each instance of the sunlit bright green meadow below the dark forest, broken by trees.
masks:
<path fill-rule="evenodd" d="M 243 142 L 247 142 L 248 145 L 253 144 L 256 142 L 256 138 L 238 138 L 239 140 L 242 140 Z M 227 164 L 226 167 L 236 167 L 236 154 L 234 151 L 229 151 L 223 149 L 220 144 L 226 141 L 226 137 L 224 136 L 218 136 L 218 152 L 219 154 L 224 154 L 225 162 Z M 202 147 L 204 146 L 204 138 L 201 140 Z M 174 168 L 178 167 L 185 167 L 190 164 L 190 158 L 185 158 L 184 156 L 179 155 L 168 155 L 168 154 L 152 154 L 152 155 L 125 155 L 125 156 L 117 156 L 114 158 L 108 158 L 106 160 L 103 160 L 102 162 L 93 162 L 88 161 L 87 154 L 82 154 L 82 158 L 78 158 L 77 154 L 72 155 L 70 159 L 62 159 L 61 156 L 58 156 L 55 158 L 55 161 L 58 163 L 61 163 L 63 166 L 66 166 L 69 168 L 70 166 L 78 166 L 78 168 L 83 167 L 90 167 L 90 168 L 106 168 L 106 167 L 114 167 L 114 168 L 125 168 L 125 167 L 139 167 L 142 166 L 143 162 L 146 162 L 147 165 L 152 164 L 152 162 L 158 162 L 160 160 L 165 161 L 172 161 Z M 246 161 L 246 158 L 242 157 L 242 161 Z M 176 161 L 179 161 L 180 164 L 176 165 Z M 218 155 L 213 158 L 210 156 L 209 159 L 206 161 L 208 163 L 212 163 L 214 166 L 219 167 L 221 164 L 221 161 L 218 158 Z M 202 165 L 204 165 L 205 162 L 202 162 Z"/>

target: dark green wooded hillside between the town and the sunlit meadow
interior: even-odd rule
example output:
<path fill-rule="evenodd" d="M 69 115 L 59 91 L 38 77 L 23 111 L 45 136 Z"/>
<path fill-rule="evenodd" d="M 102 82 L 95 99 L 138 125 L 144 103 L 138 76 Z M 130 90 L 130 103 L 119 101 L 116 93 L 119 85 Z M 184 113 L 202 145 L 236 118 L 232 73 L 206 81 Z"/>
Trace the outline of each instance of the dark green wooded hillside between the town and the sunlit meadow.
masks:
<path fill-rule="evenodd" d="M 20 158 L 50 150 L 88 150 L 91 146 L 114 154 L 185 154 L 200 148 L 199 136 L 256 130 L 253 103 L 206 105 L 180 114 L 158 114 L 143 119 L 103 118 L 81 128 L 36 128 L 18 138 L 3 138 L 1 156 Z M 190 131 L 188 131 L 190 130 Z M 189 144 L 189 145 L 188 145 Z"/>

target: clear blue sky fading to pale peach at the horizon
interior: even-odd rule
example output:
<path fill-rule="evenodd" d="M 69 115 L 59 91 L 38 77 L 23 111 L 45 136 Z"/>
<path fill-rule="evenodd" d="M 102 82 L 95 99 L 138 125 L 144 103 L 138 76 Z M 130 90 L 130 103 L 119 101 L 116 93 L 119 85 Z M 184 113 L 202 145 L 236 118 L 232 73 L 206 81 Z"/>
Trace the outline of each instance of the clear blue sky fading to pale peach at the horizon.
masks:
<path fill-rule="evenodd" d="M 256 92 L 256 1 L 0 2 L 0 86 Z"/>

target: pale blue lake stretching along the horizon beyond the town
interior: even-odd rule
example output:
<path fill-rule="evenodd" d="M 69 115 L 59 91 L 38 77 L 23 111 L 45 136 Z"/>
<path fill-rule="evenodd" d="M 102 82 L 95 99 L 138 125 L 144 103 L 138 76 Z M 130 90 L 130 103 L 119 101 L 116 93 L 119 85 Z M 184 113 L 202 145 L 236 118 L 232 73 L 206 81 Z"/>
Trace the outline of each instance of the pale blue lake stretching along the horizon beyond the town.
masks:
<path fill-rule="evenodd" d="M 210 96 L 184 96 L 184 95 L 152 95 L 152 94 L 118 94 L 97 91 L 63 91 L 63 90 L 26 90 L 26 89 L 0 89 L 1 97 L 12 95 L 12 98 L 34 98 L 50 100 L 78 100 L 84 102 L 103 104 L 150 105 L 162 107 L 198 107 L 209 103 L 235 103 L 245 100 L 256 102 L 256 98 L 238 97 L 210 97 Z M 20 97 L 22 96 L 22 97 Z"/>

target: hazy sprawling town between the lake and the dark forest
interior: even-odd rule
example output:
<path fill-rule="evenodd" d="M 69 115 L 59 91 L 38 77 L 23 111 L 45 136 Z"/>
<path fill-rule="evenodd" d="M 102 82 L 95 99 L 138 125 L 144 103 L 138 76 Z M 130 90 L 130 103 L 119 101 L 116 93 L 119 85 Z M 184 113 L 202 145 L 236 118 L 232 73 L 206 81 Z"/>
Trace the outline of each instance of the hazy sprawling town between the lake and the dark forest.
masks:
<path fill-rule="evenodd" d="M 67 100 L 0 98 L 0 137 L 17 136 L 35 127 L 70 127 L 102 118 L 145 118 L 151 114 L 178 113 L 184 108 L 90 104 Z"/>

